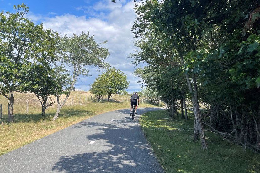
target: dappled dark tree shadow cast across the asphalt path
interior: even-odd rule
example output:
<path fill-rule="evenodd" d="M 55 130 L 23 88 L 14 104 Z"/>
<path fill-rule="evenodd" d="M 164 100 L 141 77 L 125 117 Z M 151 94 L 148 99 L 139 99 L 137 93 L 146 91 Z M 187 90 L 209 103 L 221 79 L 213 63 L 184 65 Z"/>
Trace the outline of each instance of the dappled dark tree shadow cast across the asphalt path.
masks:
<path fill-rule="evenodd" d="M 124 111 L 125 110 L 119 110 Z M 109 123 L 81 122 L 75 128 L 98 127 L 98 133 L 87 135 L 88 152 L 60 157 L 52 170 L 56 172 L 163 172 L 146 142 L 138 121 L 131 117 Z M 107 127 L 103 129 L 103 127 Z M 102 149 L 101 146 L 102 145 Z"/>

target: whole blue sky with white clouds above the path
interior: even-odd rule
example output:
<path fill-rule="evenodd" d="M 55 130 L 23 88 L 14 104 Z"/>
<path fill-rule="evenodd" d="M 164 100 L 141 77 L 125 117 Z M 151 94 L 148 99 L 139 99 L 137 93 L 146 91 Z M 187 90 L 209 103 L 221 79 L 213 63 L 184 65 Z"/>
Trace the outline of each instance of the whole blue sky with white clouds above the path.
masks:
<path fill-rule="evenodd" d="M 44 23 L 45 28 L 61 35 L 89 31 L 97 42 L 107 40 L 105 47 L 109 48 L 110 56 L 106 61 L 127 74 L 128 92 L 141 90 L 137 84 L 139 78 L 132 74 L 136 67 L 132 59 L 127 58 L 137 49 L 130 31 L 136 17 L 132 0 L 120 0 L 115 4 L 111 0 L 0 0 L 0 10 L 13 12 L 13 5 L 20 3 L 29 6 L 27 17 L 34 23 Z M 90 89 L 99 73 L 94 67 L 89 70 L 92 76 L 80 77 L 76 89 Z"/>

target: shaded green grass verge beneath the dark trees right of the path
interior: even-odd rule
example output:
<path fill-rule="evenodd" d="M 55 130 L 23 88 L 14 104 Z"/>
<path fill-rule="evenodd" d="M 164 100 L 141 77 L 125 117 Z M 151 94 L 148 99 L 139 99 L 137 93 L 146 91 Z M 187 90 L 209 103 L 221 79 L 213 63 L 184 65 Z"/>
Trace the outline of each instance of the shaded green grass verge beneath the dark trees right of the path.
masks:
<path fill-rule="evenodd" d="M 158 118 L 169 116 L 165 111 L 149 112 L 141 115 L 140 124 L 166 173 L 260 172 L 259 154 L 249 150 L 244 153 L 241 146 L 222 141 L 223 138 L 210 132 L 206 132 L 209 150 L 203 151 L 200 141 L 192 140 L 192 130 L 151 130 L 194 128 L 193 120 Z"/>

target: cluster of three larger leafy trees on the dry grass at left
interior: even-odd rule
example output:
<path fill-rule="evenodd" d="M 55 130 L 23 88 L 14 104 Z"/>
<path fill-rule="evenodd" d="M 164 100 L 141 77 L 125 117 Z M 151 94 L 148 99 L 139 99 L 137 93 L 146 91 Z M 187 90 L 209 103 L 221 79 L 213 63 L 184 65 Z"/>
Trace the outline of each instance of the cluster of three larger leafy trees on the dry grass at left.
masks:
<path fill-rule="evenodd" d="M 88 75 L 87 66 L 109 66 L 104 62 L 109 51 L 102 47 L 106 41 L 96 43 L 88 32 L 61 37 L 26 18 L 26 5 L 14 10 L 0 13 L 0 94 L 8 99 L 8 121 L 14 121 L 14 92 L 34 93 L 43 116 L 57 101 L 56 120 L 79 77 Z M 66 95 L 63 102 L 61 94 Z"/>

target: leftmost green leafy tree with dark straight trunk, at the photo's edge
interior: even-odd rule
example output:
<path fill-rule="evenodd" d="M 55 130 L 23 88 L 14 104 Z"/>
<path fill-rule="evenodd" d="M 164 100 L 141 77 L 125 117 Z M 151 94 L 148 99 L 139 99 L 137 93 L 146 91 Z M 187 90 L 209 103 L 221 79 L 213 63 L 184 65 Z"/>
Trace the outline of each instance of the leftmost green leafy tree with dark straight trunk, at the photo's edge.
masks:
<path fill-rule="evenodd" d="M 24 4 L 14 6 L 15 13 L 0 13 L 0 93 L 8 99 L 8 122 L 13 122 L 14 91 L 22 92 L 33 56 L 32 49 L 42 31 L 42 25 L 34 25 L 25 18 L 29 8 Z"/>

